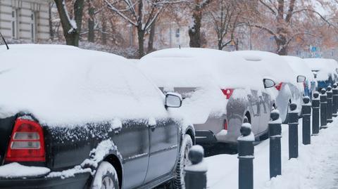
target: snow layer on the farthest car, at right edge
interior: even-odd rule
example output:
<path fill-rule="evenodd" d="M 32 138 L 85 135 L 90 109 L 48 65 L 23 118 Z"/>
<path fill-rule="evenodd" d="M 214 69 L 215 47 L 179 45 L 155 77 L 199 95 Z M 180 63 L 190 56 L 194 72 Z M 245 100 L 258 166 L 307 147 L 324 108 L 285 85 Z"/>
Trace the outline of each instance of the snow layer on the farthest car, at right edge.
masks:
<path fill-rule="evenodd" d="M 313 72 L 317 73 L 317 79 L 319 81 L 325 81 L 330 76 L 334 78 L 334 72 L 336 72 L 337 62 L 332 59 L 325 58 L 304 58 L 308 67 Z"/>

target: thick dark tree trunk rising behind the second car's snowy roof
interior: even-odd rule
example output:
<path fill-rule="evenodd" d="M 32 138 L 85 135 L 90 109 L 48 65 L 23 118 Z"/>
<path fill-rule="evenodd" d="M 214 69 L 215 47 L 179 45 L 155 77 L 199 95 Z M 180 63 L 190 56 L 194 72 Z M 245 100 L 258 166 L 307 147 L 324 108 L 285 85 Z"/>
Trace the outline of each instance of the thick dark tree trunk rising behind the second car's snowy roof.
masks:
<path fill-rule="evenodd" d="M 192 14 L 192 19 L 194 23 L 192 27 L 189 27 L 189 37 L 190 47 L 201 47 L 201 19 L 202 13 L 201 8 L 199 6 L 195 6 L 194 12 Z"/>

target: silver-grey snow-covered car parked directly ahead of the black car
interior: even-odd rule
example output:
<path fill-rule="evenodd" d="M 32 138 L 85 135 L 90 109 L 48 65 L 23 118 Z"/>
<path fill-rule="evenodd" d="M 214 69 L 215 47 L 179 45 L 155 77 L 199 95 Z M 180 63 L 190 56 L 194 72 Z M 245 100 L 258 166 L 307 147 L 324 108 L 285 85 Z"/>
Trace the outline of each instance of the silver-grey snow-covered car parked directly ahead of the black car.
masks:
<path fill-rule="evenodd" d="M 182 95 L 180 112 L 194 124 L 196 143 L 236 143 L 245 119 L 256 138 L 267 133 L 274 101 L 265 87 L 275 82 L 243 58 L 206 48 L 171 48 L 149 53 L 139 67 L 163 93 Z"/>

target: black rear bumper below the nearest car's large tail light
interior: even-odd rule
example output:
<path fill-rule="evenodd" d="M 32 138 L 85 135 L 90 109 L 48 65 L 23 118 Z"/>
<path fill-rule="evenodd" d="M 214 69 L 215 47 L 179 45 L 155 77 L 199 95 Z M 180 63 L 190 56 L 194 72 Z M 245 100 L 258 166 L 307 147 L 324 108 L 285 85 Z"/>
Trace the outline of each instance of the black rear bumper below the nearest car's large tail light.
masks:
<path fill-rule="evenodd" d="M 75 174 L 68 178 L 0 178 L 0 188 L 28 189 L 28 188 L 87 188 L 90 173 Z"/>

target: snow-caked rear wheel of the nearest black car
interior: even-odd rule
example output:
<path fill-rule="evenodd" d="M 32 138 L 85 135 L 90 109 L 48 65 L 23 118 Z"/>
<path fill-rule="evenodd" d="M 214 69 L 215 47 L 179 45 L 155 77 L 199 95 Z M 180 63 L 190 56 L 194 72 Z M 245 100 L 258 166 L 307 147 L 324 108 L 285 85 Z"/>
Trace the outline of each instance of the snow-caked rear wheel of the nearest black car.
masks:
<path fill-rule="evenodd" d="M 109 162 L 101 162 L 92 183 L 92 189 L 119 189 L 118 174 Z"/>

